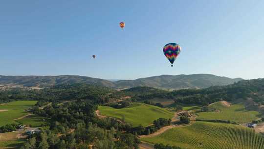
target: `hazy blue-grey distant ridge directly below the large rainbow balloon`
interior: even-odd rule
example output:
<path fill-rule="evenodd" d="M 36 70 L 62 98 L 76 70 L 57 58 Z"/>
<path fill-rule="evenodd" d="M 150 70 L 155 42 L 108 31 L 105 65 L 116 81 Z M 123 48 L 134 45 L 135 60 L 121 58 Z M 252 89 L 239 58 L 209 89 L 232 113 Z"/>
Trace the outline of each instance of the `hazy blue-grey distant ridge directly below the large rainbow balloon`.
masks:
<path fill-rule="evenodd" d="M 136 86 L 149 86 L 160 88 L 207 88 L 214 85 L 229 85 L 234 82 L 243 80 L 242 78 L 228 78 L 224 76 L 209 75 L 209 74 L 194 74 L 194 75 L 159 75 L 146 78 L 138 78 L 135 80 L 119 80 L 115 85 L 123 88 Z"/>

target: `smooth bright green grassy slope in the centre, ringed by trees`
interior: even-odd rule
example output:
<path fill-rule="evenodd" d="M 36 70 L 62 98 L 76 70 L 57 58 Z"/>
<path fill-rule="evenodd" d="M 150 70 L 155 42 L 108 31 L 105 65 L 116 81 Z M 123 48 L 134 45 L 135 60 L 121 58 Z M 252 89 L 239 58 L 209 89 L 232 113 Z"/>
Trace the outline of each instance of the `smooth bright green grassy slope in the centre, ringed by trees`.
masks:
<path fill-rule="evenodd" d="M 173 118 L 174 113 L 166 109 L 143 103 L 132 103 L 130 107 L 115 109 L 109 106 L 99 106 L 101 115 L 115 117 L 118 119 L 125 118 L 125 121 L 137 126 L 142 124 L 147 126 L 152 124 L 158 118 Z"/>

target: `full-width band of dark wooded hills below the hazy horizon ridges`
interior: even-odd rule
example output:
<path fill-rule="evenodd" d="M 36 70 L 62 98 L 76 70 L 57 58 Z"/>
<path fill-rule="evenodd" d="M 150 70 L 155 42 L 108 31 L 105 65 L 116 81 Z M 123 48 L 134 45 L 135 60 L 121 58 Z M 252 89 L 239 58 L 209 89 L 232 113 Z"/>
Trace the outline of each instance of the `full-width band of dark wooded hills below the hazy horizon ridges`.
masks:
<path fill-rule="evenodd" d="M 234 99 L 252 98 L 255 102 L 264 104 L 264 79 L 242 80 L 226 86 L 213 86 L 206 89 L 185 89 L 168 92 L 151 87 L 134 87 L 127 90 L 115 91 L 107 87 L 88 84 L 60 84 L 42 90 L 14 89 L 0 92 L 0 102 L 12 100 L 43 100 L 61 101 L 72 99 L 89 99 L 104 104 L 111 98 L 120 99 L 130 96 L 133 102 L 154 98 L 174 99 L 185 104 L 207 105 L 221 99 L 232 101 Z M 150 103 L 151 104 L 151 103 Z M 40 104 L 41 105 L 41 104 Z"/>

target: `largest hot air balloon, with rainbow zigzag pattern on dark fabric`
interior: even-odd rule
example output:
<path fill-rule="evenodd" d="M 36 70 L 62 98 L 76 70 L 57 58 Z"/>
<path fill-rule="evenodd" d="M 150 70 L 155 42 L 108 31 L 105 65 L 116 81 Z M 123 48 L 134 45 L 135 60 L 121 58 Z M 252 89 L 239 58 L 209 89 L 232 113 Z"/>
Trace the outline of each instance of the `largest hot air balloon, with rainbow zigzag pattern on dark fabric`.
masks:
<path fill-rule="evenodd" d="M 180 51 L 181 51 L 181 48 L 176 43 L 170 43 L 170 44 L 167 44 L 164 46 L 164 48 L 163 48 L 164 55 L 172 63 L 172 65 L 171 65 L 172 67 L 173 67 L 173 62 L 176 60 Z"/>

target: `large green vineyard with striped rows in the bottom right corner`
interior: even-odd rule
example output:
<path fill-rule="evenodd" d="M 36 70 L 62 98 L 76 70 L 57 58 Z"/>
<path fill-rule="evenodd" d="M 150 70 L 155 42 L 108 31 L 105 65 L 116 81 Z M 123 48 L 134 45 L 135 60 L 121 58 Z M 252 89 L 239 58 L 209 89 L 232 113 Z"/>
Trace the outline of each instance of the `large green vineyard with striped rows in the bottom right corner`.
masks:
<path fill-rule="evenodd" d="M 264 137 L 251 128 L 209 122 L 173 128 L 159 136 L 141 140 L 182 149 L 264 149 Z"/>

